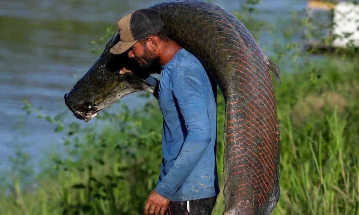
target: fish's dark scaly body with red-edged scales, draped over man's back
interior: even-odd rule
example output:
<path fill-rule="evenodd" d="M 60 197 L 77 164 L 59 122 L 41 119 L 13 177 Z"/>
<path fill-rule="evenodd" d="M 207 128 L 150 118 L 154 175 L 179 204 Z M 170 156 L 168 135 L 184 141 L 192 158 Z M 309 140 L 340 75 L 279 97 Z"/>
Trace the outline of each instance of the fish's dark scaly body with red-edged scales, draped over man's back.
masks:
<path fill-rule="evenodd" d="M 225 97 L 224 214 L 269 214 L 279 199 L 279 125 L 269 72 L 271 68 L 279 81 L 278 67 L 264 55 L 244 25 L 219 6 L 201 0 L 180 0 L 150 8 L 160 11 L 173 39 L 201 61 Z M 111 56 L 108 48 L 116 41 L 117 34 L 104 51 L 108 56 Z M 106 62 L 95 63 L 92 70 L 100 70 L 100 67 L 106 68 Z M 94 113 L 76 108 L 81 102 L 76 105 L 70 102 L 94 97 L 79 93 L 80 89 L 91 91 L 85 82 L 95 83 L 92 70 L 85 75 L 86 81 L 76 84 L 78 90 L 74 88 L 65 95 L 66 104 L 74 113 Z M 102 71 L 100 76 L 106 76 L 106 72 Z M 134 78 L 143 81 L 140 77 Z M 119 85 L 120 82 L 103 84 Z M 92 87 L 96 87 L 95 84 Z M 145 84 L 134 88 L 152 90 Z M 99 100 L 106 101 L 106 93 L 100 94 Z M 95 99 L 87 103 L 92 101 Z"/>

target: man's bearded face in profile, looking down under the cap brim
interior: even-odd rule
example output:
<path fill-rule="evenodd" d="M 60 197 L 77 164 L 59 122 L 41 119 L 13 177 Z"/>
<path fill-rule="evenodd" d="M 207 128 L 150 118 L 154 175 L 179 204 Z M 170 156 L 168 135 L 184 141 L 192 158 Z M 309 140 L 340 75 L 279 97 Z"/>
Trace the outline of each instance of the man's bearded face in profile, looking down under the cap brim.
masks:
<path fill-rule="evenodd" d="M 149 69 L 159 65 L 159 57 L 147 48 L 146 43 L 137 42 L 129 49 L 130 58 L 134 58 L 143 69 Z"/>

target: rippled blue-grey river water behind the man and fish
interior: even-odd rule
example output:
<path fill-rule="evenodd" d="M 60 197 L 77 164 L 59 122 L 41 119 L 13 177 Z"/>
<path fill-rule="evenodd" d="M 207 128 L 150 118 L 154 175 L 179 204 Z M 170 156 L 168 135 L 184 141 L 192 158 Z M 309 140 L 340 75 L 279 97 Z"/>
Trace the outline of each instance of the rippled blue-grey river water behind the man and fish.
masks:
<path fill-rule="evenodd" d="M 101 38 L 106 27 L 116 28 L 116 22 L 122 16 L 157 2 L 0 1 L 1 168 L 8 166 L 9 157 L 14 157 L 17 149 L 29 154 L 36 166 L 47 153 L 61 150 L 61 136 L 53 132 L 55 125 L 37 119 L 36 114 L 26 116 L 22 110 L 23 101 L 29 101 L 51 116 L 64 111 L 63 95 L 97 59 L 90 53 L 93 48 L 90 42 Z M 211 2 L 233 13 L 241 10 L 245 0 Z M 261 13 L 256 19 L 283 29 L 290 25 L 292 11 L 303 15 L 305 7 L 304 0 L 262 0 L 257 5 Z M 297 37 L 300 38 L 302 33 L 298 32 Z M 260 37 L 261 45 L 268 42 L 265 38 L 265 35 Z M 123 100 L 130 106 L 138 106 L 143 99 L 137 95 L 131 94 Z"/>

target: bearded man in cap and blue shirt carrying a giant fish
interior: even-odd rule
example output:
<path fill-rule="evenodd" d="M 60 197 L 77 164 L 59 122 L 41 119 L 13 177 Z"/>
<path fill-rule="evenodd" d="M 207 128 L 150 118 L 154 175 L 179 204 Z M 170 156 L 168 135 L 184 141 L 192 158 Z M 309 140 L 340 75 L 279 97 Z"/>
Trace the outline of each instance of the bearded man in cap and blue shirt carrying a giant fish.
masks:
<path fill-rule="evenodd" d="M 140 9 L 118 21 L 120 42 L 142 68 L 162 68 L 156 84 L 163 114 L 160 176 L 144 214 L 210 214 L 219 192 L 216 172 L 216 104 L 201 63 L 169 37 L 155 10 Z M 123 68 L 120 73 L 128 72 Z"/>

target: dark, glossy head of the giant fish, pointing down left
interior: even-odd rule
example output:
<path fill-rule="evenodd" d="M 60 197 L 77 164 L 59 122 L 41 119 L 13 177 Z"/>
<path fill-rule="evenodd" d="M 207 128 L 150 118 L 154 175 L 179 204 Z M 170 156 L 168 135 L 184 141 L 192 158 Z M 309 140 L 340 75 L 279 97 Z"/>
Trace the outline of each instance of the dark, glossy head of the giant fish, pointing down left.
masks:
<path fill-rule="evenodd" d="M 65 103 L 76 118 L 88 122 L 123 96 L 141 90 L 153 92 L 154 87 L 144 80 L 149 71 L 142 70 L 127 52 L 109 51 L 119 40 L 118 33 L 113 35 L 89 71 L 65 94 Z M 120 72 L 123 67 L 131 72 Z"/>

